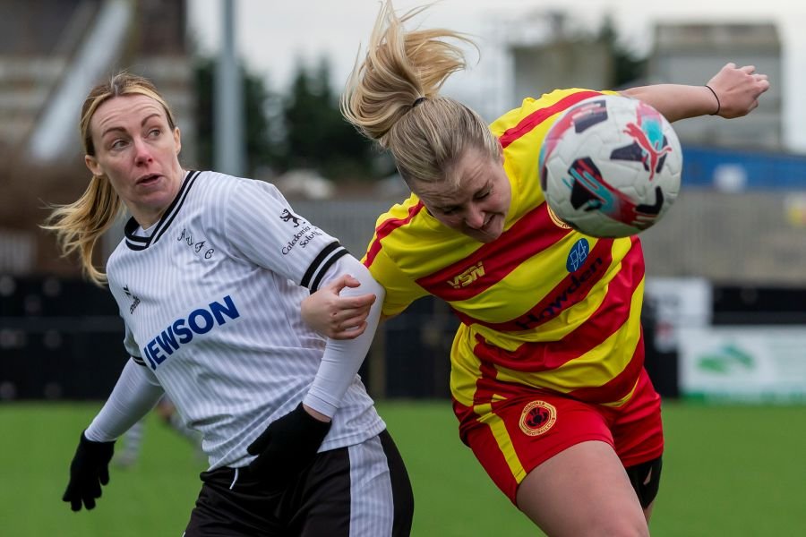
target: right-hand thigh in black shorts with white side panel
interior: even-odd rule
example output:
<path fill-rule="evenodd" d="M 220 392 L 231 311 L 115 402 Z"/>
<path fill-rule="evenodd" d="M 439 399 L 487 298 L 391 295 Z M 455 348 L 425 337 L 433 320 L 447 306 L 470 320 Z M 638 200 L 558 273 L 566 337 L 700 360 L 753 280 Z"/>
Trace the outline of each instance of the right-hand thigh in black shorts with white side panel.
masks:
<path fill-rule="evenodd" d="M 411 531 L 411 483 L 387 431 L 321 454 L 304 483 L 290 534 L 397 537 Z"/>

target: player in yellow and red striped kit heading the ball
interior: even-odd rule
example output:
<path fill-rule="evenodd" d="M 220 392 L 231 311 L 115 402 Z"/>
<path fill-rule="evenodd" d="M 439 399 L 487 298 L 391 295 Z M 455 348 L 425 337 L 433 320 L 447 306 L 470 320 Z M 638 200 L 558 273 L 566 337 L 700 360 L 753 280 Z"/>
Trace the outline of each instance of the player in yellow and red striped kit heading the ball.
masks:
<path fill-rule="evenodd" d="M 383 2 L 342 98 L 347 120 L 390 151 L 413 192 L 378 218 L 364 257 L 386 291 L 382 316 L 426 294 L 450 304 L 461 321 L 450 355 L 459 435 L 545 533 L 647 535 L 664 437 L 643 367 L 640 241 L 562 223 L 544 203 L 538 155 L 556 118 L 585 98 L 621 93 L 670 122 L 733 118 L 758 106 L 767 76 L 726 64 L 706 86 L 555 90 L 488 126 L 440 95 L 472 41 L 405 30 L 424 9 L 399 16 Z M 344 302 L 314 294 L 304 319 L 346 336 L 333 321 L 351 311 Z"/>

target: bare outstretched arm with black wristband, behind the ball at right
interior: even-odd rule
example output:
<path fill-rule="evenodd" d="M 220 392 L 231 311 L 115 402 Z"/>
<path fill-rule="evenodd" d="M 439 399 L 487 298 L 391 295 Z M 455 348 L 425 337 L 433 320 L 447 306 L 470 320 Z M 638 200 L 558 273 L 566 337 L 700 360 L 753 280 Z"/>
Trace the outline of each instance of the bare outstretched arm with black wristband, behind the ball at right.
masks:
<path fill-rule="evenodd" d="M 710 90 L 708 89 L 710 88 Z M 769 89 L 766 74 L 753 65 L 725 64 L 705 86 L 653 84 L 623 90 L 655 107 L 670 122 L 699 115 L 742 117 L 759 106 L 759 97 Z"/>

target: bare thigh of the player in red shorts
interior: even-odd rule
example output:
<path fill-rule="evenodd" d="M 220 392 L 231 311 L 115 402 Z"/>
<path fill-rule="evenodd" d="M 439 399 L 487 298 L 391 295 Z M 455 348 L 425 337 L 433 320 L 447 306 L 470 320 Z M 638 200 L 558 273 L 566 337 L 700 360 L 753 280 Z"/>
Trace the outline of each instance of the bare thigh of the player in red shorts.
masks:
<path fill-rule="evenodd" d="M 604 442 L 576 444 L 537 466 L 520 483 L 518 507 L 554 537 L 649 535 L 622 462 Z"/>

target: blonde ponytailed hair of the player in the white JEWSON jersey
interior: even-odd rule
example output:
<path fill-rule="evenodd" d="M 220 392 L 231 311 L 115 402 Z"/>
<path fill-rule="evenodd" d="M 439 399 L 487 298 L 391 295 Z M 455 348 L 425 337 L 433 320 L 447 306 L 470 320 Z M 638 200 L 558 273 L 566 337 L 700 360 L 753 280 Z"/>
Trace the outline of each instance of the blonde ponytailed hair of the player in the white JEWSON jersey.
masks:
<path fill-rule="evenodd" d="M 149 80 L 128 72 L 119 72 L 109 81 L 90 90 L 81 107 L 79 123 L 81 141 L 84 152 L 90 157 L 95 156 L 95 144 L 90 132 L 92 116 L 98 107 L 110 98 L 124 95 L 145 95 L 153 98 L 165 110 L 171 131 L 176 128 L 170 107 Z M 93 175 L 81 198 L 73 203 L 53 206 L 50 216 L 42 227 L 56 232 L 56 241 L 64 256 L 78 251 L 84 273 L 93 283 L 101 286 L 106 283 L 107 276 L 93 264 L 92 252 L 101 235 L 115 223 L 117 217 L 123 215 L 124 209 L 123 202 L 107 177 Z"/>

